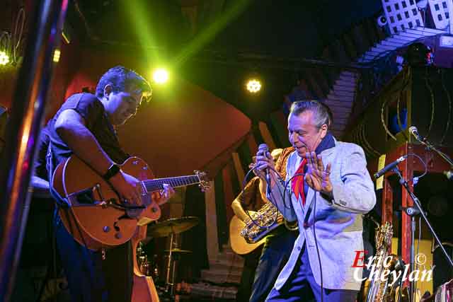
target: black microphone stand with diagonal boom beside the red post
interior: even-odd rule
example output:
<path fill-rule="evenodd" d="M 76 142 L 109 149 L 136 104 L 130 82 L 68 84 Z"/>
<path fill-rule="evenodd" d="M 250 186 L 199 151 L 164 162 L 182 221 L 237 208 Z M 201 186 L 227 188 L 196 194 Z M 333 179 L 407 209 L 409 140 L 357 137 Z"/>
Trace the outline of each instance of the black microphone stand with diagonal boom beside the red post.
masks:
<path fill-rule="evenodd" d="M 440 249 L 444 253 L 445 257 L 447 258 L 447 260 L 449 262 L 449 265 L 453 268 L 452 258 L 449 257 L 449 255 L 447 253 L 447 250 L 445 250 L 445 248 L 442 245 L 442 242 L 440 241 L 439 237 L 437 237 L 437 234 L 435 233 L 434 228 L 432 228 L 430 221 L 428 221 L 428 218 L 425 215 L 425 211 L 423 211 L 422 206 L 420 204 L 420 200 L 415 196 L 415 194 L 413 194 L 413 192 L 411 192 L 411 190 L 409 189 L 408 182 L 403 178 L 403 175 L 401 175 L 401 171 L 398 169 L 398 167 L 395 167 L 393 169 L 393 171 L 396 173 L 396 175 L 398 175 L 399 183 L 406 189 L 406 191 L 408 192 L 409 196 L 411 196 L 413 204 L 415 204 L 415 206 L 417 207 L 418 211 L 420 211 L 420 215 L 423 217 L 423 220 L 425 220 L 426 224 L 428 225 L 428 228 L 430 228 L 432 236 L 435 238 L 435 241 L 437 242 L 437 244 L 439 245 Z M 415 218 L 414 218 L 414 216 L 412 216 L 412 221 L 413 222 L 412 222 L 411 271 L 412 271 L 412 269 L 414 267 L 414 263 L 413 262 L 414 262 L 414 258 L 415 258 L 415 255 L 413 255 L 415 253 L 415 250 L 414 250 Z M 413 281 L 412 281 L 410 289 L 411 289 L 411 299 L 413 301 L 413 294 L 415 294 L 413 292 Z"/>

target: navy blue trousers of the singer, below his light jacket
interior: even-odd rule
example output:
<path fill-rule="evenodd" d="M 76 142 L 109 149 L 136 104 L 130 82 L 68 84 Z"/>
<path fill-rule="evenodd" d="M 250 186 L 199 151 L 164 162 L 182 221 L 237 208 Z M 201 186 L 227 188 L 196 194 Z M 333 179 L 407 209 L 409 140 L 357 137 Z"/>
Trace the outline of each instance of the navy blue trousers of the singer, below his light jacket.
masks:
<path fill-rule="evenodd" d="M 355 302 L 358 291 L 323 289 L 323 301 Z M 316 283 L 309 264 L 309 255 L 304 248 L 296 267 L 280 291 L 272 289 L 267 302 L 321 301 L 321 286 Z"/>

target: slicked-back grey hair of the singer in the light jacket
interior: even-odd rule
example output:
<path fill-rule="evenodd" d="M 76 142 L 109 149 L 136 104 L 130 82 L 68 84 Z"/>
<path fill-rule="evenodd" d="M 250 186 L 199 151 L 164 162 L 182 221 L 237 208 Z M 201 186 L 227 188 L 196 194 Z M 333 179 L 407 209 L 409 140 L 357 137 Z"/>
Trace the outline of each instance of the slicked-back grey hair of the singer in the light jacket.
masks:
<path fill-rule="evenodd" d="M 313 119 L 316 127 L 321 128 L 323 124 L 326 124 L 328 128 L 331 127 L 333 115 L 331 108 L 328 108 L 328 105 L 321 103 L 318 100 L 299 100 L 292 103 L 289 115 L 298 116 L 305 111 L 313 112 Z"/>

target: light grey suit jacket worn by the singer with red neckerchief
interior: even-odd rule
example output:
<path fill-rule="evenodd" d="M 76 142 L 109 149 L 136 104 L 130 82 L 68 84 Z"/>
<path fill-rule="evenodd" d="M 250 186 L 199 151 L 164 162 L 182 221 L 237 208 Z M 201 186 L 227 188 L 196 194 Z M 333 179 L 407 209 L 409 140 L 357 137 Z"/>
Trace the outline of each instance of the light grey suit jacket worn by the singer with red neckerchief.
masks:
<path fill-rule="evenodd" d="M 277 183 L 268 194 L 268 199 L 288 221 L 297 219 L 299 237 L 294 243 L 291 256 L 275 281 L 279 290 L 289 278 L 297 259 L 301 256 L 304 243 L 309 254 L 311 270 L 316 282 L 321 285 L 321 274 L 315 245 L 315 233 L 321 257 L 323 287 L 326 289 L 360 289 L 360 281 L 354 278 L 352 263 L 355 251 L 363 250 L 362 214 L 370 211 L 376 204 L 374 185 L 369 177 L 365 153 L 360 146 L 336 141 L 336 146 L 321 152 L 324 165 L 331 163 L 331 182 L 333 199 L 326 199 L 323 194 L 309 188 L 306 202 L 297 200 L 287 186 L 286 202 L 283 202 L 284 188 Z M 287 180 L 297 170 L 296 151 L 287 161 Z M 289 194 L 291 200 L 289 201 Z M 314 221 L 315 229 L 314 229 Z M 362 271 L 357 272 L 362 277 Z"/>

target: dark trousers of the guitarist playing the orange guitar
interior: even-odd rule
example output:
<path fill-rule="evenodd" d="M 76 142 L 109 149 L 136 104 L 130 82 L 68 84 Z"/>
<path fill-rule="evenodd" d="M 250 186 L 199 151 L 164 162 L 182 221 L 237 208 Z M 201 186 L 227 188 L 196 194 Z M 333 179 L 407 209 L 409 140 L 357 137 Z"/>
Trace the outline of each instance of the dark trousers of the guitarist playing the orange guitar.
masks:
<path fill-rule="evenodd" d="M 55 237 L 72 302 L 130 301 L 133 280 L 130 242 L 106 250 L 102 260 L 101 252 L 88 250 L 74 240 L 58 215 Z"/>

